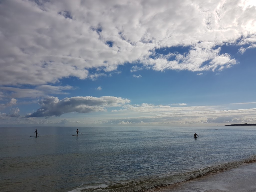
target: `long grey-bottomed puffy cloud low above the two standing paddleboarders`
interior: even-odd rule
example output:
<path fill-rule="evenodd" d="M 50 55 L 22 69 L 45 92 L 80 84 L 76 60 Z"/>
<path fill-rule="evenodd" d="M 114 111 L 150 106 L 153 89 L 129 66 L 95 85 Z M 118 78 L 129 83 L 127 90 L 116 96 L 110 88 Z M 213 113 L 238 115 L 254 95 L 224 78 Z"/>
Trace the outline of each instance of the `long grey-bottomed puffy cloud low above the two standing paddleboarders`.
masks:
<path fill-rule="evenodd" d="M 129 103 L 130 100 L 118 97 L 71 97 L 59 100 L 57 97 L 48 97 L 39 102 L 41 108 L 34 113 L 29 113 L 26 117 L 49 117 L 60 116 L 64 113 L 78 112 L 90 113 L 97 111 L 107 111 L 107 108 L 118 107 Z"/>

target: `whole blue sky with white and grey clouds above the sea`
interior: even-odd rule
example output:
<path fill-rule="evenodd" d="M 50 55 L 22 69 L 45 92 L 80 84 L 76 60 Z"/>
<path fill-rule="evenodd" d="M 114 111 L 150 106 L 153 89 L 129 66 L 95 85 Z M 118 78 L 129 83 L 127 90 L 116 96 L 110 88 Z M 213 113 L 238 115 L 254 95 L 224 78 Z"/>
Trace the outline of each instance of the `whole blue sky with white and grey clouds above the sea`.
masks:
<path fill-rule="evenodd" d="M 254 0 L 2 0 L 0 126 L 256 123 Z"/>

